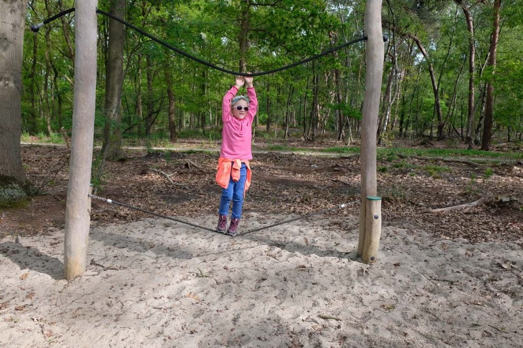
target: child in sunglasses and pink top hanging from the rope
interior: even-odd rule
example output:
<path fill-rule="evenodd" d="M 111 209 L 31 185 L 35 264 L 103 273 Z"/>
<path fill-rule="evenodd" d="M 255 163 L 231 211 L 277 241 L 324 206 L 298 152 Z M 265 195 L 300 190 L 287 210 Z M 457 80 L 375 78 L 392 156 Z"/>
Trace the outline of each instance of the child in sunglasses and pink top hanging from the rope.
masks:
<path fill-rule="evenodd" d="M 236 95 L 246 83 L 247 96 Z M 242 217 L 245 191 L 251 185 L 251 128 L 258 106 L 253 77 L 237 76 L 236 84 L 223 96 L 222 148 L 218 160 L 216 182 L 222 187 L 220 217 L 216 231 L 235 236 Z M 232 200 L 231 224 L 227 228 L 229 205 Z"/>

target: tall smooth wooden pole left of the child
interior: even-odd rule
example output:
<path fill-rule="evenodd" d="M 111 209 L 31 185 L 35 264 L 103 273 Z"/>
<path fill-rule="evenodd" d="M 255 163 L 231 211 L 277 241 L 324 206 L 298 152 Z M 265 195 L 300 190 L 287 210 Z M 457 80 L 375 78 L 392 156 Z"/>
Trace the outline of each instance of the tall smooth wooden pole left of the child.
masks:
<path fill-rule="evenodd" d="M 78 0 L 75 6 L 75 65 L 73 134 L 67 203 L 65 207 L 65 279 L 85 271 L 89 239 L 89 184 L 93 160 L 96 101 L 97 0 Z"/>

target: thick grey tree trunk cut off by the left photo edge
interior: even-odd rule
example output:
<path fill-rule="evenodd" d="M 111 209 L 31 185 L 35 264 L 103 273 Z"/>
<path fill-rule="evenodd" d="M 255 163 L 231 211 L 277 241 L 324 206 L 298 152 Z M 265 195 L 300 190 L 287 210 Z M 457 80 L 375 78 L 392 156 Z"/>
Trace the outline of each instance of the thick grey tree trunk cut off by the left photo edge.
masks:
<path fill-rule="evenodd" d="M 26 177 L 22 170 L 21 90 L 22 53 L 27 1 L 2 0 L 0 7 L 0 207 L 24 200 Z"/>

